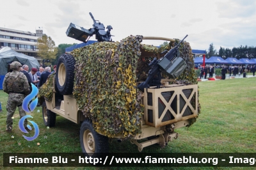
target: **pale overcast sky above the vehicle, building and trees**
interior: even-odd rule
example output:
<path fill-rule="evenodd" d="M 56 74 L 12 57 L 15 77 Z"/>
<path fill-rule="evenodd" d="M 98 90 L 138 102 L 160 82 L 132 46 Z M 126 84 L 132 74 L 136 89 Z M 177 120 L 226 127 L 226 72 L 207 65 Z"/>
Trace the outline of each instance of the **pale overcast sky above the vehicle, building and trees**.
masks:
<path fill-rule="evenodd" d="M 89 29 L 96 20 L 111 25 L 112 39 L 129 35 L 182 39 L 192 49 L 216 50 L 240 45 L 256 46 L 255 0 L 4 0 L 0 27 L 30 31 L 43 29 L 58 46 L 81 43 L 66 35 L 72 22 Z M 90 40 L 95 40 L 95 36 Z M 159 45 L 163 41 L 143 40 Z"/>

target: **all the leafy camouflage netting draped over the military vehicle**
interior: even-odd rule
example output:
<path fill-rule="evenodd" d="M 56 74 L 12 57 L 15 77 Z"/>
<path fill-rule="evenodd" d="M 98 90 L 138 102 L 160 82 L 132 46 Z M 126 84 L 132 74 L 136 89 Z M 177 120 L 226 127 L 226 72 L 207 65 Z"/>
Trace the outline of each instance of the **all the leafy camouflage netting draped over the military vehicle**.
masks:
<path fill-rule="evenodd" d="M 148 63 L 161 52 L 170 50 L 180 40 L 164 47 L 141 44 L 141 36 L 129 36 L 121 42 L 97 42 L 72 51 L 76 59 L 73 95 L 84 116 L 90 118 L 97 132 L 108 137 L 129 137 L 141 133 L 141 92 L 136 87 L 145 81 Z M 141 56 L 141 50 L 152 56 Z M 197 84 L 192 50 L 188 42 L 179 48 L 188 67 L 172 84 Z M 162 72 L 163 78 L 168 78 Z M 52 77 L 50 77 L 52 79 Z M 52 97 L 53 81 L 40 89 L 40 96 Z M 51 84 L 51 86 L 48 86 Z M 198 93 L 199 96 L 199 93 Z M 192 104 L 195 106 L 195 104 Z M 198 104 L 198 114 L 200 104 Z M 196 118 L 190 120 L 190 125 Z"/>

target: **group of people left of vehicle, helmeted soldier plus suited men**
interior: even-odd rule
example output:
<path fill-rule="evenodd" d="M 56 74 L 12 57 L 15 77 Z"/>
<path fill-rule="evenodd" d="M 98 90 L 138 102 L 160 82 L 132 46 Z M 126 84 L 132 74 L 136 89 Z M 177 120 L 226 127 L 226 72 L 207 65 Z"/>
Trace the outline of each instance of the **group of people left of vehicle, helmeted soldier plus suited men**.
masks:
<path fill-rule="evenodd" d="M 11 71 L 6 73 L 3 81 L 3 91 L 8 93 L 8 101 L 6 105 L 7 118 L 6 118 L 6 132 L 12 132 L 13 114 L 16 108 L 19 108 L 20 118 L 26 116 L 26 112 L 22 109 L 22 102 L 24 98 L 32 91 L 32 84 L 38 89 L 47 81 L 51 73 L 56 72 L 56 65 L 53 67 L 47 66 L 43 68 L 31 68 L 29 71 L 28 65 L 21 65 L 18 61 L 13 61 L 10 64 Z M 24 127 L 27 127 L 28 121 L 24 121 Z"/>

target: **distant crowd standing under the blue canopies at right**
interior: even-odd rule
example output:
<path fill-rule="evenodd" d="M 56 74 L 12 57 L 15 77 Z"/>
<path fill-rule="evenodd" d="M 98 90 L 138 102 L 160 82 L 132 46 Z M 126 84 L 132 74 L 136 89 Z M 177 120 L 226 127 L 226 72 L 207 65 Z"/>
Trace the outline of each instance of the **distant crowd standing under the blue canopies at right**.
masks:
<path fill-rule="evenodd" d="M 247 73 L 250 72 L 250 73 L 253 73 L 253 76 L 255 76 L 255 71 L 256 71 L 255 65 L 216 66 L 215 68 L 221 68 L 221 76 L 222 76 L 221 79 L 225 79 L 226 73 L 229 73 L 229 76 L 236 76 L 236 75 L 241 75 L 244 72 L 247 72 Z M 209 73 L 209 77 L 212 77 L 212 74 L 214 73 L 214 68 L 211 65 L 198 66 L 197 69 L 201 70 L 200 79 L 202 79 L 202 77 L 206 79 L 207 73 Z"/>

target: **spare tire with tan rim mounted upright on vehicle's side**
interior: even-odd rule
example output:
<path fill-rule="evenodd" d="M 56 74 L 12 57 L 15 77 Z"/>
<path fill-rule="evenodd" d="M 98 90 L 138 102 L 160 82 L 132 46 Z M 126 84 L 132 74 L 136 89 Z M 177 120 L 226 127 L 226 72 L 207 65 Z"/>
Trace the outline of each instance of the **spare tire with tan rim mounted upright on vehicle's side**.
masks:
<path fill-rule="evenodd" d="M 62 54 L 56 68 L 56 85 L 61 95 L 72 95 L 76 60 L 71 54 Z"/>

